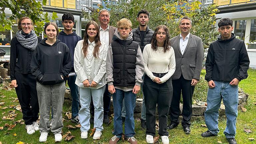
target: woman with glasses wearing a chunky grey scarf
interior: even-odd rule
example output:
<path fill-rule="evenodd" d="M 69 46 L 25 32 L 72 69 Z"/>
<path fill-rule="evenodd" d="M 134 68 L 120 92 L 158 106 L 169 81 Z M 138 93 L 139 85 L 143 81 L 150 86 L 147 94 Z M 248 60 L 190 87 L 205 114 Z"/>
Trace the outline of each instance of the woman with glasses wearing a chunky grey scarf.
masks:
<path fill-rule="evenodd" d="M 28 134 L 38 130 L 38 99 L 36 80 L 31 74 L 30 62 L 37 44 L 42 40 L 34 32 L 33 22 L 29 17 L 18 21 L 16 37 L 11 41 L 10 75 L 21 106 L 23 120 Z"/>

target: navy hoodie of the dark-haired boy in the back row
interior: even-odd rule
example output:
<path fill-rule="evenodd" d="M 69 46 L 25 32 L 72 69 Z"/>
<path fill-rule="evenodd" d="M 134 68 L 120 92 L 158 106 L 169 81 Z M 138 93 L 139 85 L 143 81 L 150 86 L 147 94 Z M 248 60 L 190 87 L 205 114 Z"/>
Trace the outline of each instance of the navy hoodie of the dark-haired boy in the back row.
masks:
<path fill-rule="evenodd" d="M 75 51 L 77 42 L 82 40 L 82 38 L 80 36 L 78 36 L 75 31 L 73 31 L 73 33 L 71 33 L 71 34 L 66 34 L 64 31 L 61 31 L 57 38 L 61 42 L 65 43 L 68 46 L 69 51 L 71 53 L 71 59 L 72 59 L 71 72 L 75 72 L 75 70 L 74 70 L 74 51 Z"/>

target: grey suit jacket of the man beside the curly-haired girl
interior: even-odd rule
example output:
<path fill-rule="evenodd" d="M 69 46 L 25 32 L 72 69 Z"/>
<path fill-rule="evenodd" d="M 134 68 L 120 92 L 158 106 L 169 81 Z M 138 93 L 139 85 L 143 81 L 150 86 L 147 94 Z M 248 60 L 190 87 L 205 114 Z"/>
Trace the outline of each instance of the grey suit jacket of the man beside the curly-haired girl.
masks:
<path fill-rule="evenodd" d="M 201 38 L 190 34 L 183 55 L 180 51 L 180 35 L 173 37 L 170 41 L 176 60 L 176 69 L 172 79 L 179 79 L 182 74 L 186 80 L 192 80 L 193 78 L 199 80 L 203 63 L 203 43 Z"/>

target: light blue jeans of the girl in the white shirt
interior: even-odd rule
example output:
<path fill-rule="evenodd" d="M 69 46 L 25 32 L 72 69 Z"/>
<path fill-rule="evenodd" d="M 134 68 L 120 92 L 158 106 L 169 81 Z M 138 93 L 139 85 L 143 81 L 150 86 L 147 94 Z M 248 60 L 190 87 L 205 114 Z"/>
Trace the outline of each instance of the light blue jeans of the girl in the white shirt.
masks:
<path fill-rule="evenodd" d="M 105 86 L 98 89 L 91 88 L 79 88 L 80 93 L 80 105 L 81 108 L 78 112 L 81 131 L 88 131 L 90 129 L 90 103 L 91 97 L 94 105 L 94 127 L 96 131 L 103 130 L 103 94 L 105 91 Z"/>

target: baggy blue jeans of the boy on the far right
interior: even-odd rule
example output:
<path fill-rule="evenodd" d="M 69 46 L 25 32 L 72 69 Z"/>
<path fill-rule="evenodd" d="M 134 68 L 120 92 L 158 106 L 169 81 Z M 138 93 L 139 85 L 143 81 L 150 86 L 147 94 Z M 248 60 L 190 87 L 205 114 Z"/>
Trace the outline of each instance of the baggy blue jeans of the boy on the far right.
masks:
<path fill-rule="evenodd" d="M 205 124 L 211 133 L 215 135 L 219 133 L 218 110 L 221 105 L 221 99 L 223 99 L 227 117 L 224 134 L 226 138 L 234 138 L 236 134 L 236 118 L 238 113 L 238 86 L 232 86 L 227 81 L 214 81 L 214 83 L 215 87 L 208 89 L 207 108 L 204 112 Z"/>

